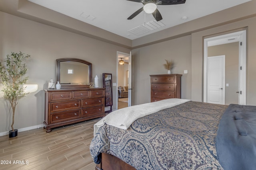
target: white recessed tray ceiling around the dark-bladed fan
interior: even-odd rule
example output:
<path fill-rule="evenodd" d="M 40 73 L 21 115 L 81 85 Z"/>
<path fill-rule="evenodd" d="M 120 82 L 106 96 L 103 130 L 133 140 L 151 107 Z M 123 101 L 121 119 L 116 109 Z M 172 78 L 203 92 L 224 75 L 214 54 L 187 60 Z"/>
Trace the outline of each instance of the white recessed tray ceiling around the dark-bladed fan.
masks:
<path fill-rule="evenodd" d="M 132 20 L 127 18 L 143 4 L 128 0 L 29 0 L 56 12 L 60 12 L 96 27 L 100 27 L 128 39 L 136 39 L 175 25 L 200 18 L 250 0 L 186 0 L 185 4 L 158 5 L 164 26 L 150 30 L 144 23 L 154 20 L 144 11 Z M 87 17 L 87 18 L 84 18 Z M 182 17 L 187 17 L 183 20 Z M 157 22 L 158 23 L 158 22 Z M 160 23 L 160 24 L 161 24 Z M 142 29 L 141 35 L 131 33 L 134 28 Z"/>

